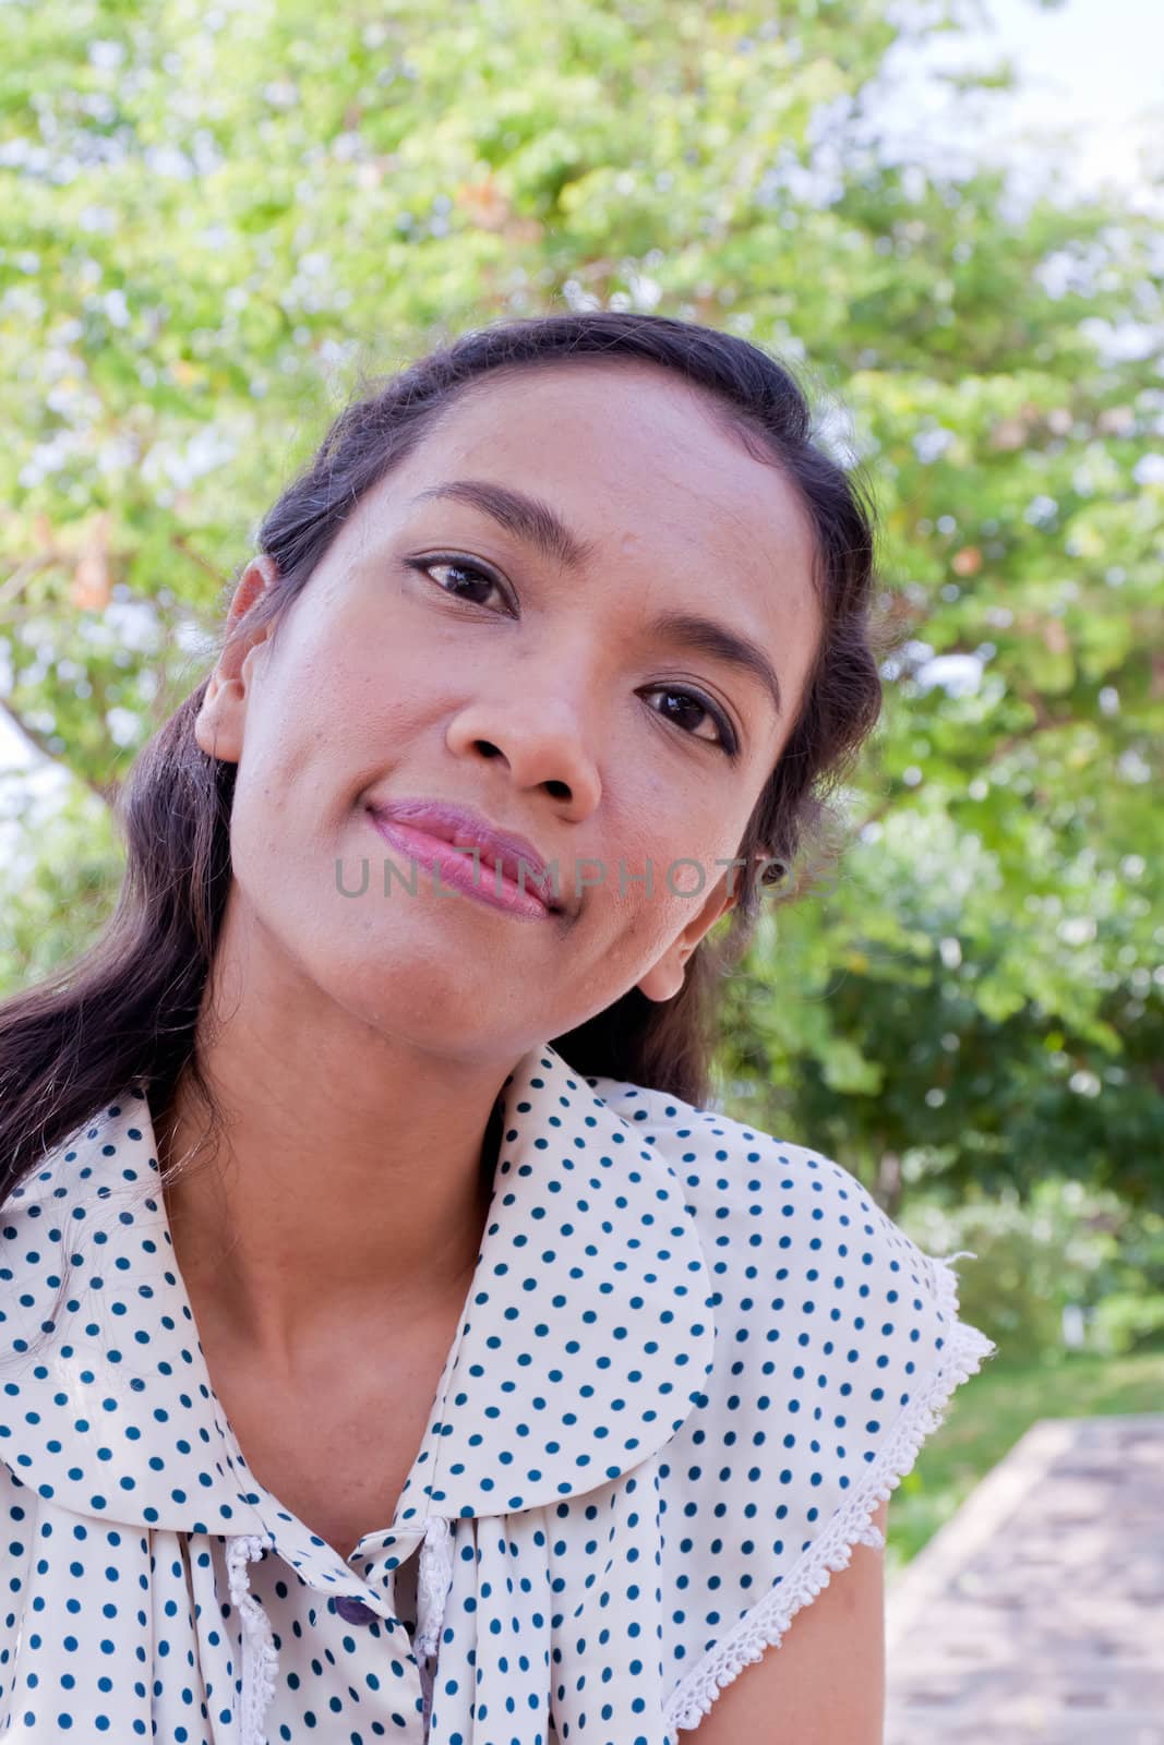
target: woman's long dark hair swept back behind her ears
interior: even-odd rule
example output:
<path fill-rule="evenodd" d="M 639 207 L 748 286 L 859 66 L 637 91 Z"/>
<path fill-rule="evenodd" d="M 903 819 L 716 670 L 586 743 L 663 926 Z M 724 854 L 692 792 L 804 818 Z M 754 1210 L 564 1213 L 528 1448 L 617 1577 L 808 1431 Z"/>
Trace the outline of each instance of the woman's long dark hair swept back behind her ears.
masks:
<path fill-rule="evenodd" d="M 346 515 L 393 471 L 457 393 L 499 370 L 567 359 L 649 361 L 703 391 L 754 459 L 798 487 L 815 529 L 822 633 L 792 733 L 736 850 L 738 900 L 688 961 L 668 1002 L 637 988 L 564 1037 L 546 1038 L 581 1075 L 607 1073 L 709 1101 L 717 989 L 752 937 L 766 885 L 836 824 L 829 796 L 881 710 L 874 518 L 864 483 L 813 441 L 792 373 L 743 339 L 667 316 L 550 314 L 461 335 L 349 403 L 258 530 L 277 579 L 246 614 L 277 619 L 307 586 Z M 227 642 L 225 614 L 218 651 Z M 0 1005 L 0 1197 L 126 1087 L 157 1112 L 180 1077 L 215 1119 L 195 1030 L 230 886 L 236 766 L 194 738 L 209 672 L 141 749 L 115 803 L 127 866 L 117 909 L 70 967 Z M 771 864 L 759 871 L 763 857 Z M 799 871 L 798 871 L 799 876 Z M 778 890 L 777 895 L 782 892 Z"/>

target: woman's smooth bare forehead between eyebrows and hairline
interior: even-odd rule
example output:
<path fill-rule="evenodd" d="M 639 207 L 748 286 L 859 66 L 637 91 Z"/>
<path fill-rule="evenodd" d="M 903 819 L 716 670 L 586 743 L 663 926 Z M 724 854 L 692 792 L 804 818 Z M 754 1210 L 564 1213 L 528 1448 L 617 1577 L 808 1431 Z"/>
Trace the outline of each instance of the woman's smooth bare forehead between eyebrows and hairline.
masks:
<path fill-rule="evenodd" d="M 546 499 L 600 550 L 658 553 L 811 588 L 813 532 L 799 490 L 759 461 L 714 405 L 668 370 L 574 361 L 482 377 L 461 391 L 372 496 L 396 510 L 457 476 Z M 729 576 L 719 576 L 728 581 Z"/>

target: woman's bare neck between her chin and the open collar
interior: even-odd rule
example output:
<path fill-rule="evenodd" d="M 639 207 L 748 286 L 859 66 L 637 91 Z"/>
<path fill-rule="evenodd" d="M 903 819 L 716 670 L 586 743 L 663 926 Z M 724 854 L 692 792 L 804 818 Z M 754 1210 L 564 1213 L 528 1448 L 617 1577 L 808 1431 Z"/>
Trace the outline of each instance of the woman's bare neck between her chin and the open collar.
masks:
<path fill-rule="evenodd" d="M 206 1160 L 188 1080 L 152 1115 L 199 1323 L 213 1316 L 251 1356 L 290 1368 L 339 1333 L 382 1330 L 386 1314 L 415 1324 L 462 1302 L 515 1061 L 424 1052 L 258 982 L 246 977 L 229 1021 L 199 1023 L 222 1113 Z"/>

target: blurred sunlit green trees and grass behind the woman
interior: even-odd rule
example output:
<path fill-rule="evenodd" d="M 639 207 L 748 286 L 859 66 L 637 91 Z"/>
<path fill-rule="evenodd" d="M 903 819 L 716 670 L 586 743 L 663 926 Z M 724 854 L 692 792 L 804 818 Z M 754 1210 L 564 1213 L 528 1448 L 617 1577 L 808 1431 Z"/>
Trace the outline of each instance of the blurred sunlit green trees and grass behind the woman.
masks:
<path fill-rule="evenodd" d="M 1164 1401 L 1161 49 L 1148 0 L 0 5 L 0 996 L 110 913 L 119 782 L 368 373 L 649 309 L 867 469 L 887 712 L 719 1099 L 977 1256 L 890 1569 L 1033 1419 Z"/>

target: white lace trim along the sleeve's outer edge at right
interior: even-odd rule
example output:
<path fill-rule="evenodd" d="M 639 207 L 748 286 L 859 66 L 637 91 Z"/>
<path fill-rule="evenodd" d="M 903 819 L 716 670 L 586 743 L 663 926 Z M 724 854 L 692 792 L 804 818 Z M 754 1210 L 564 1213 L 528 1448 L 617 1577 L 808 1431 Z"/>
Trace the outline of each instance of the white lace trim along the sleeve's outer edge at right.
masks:
<path fill-rule="evenodd" d="M 925 1391 L 913 1396 L 862 1483 L 846 1494 L 843 1508 L 813 1539 L 799 1564 L 681 1680 L 667 1705 L 668 1745 L 674 1745 L 674 1735 L 681 1728 L 695 1728 L 703 1719 L 719 1693 L 745 1666 L 780 1642 L 796 1612 L 829 1586 L 831 1570 L 848 1567 L 855 1544 L 874 1550 L 885 1544 L 885 1534 L 871 1522 L 876 1504 L 885 1502 L 909 1473 L 921 1443 L 942 1422 L 942 1410 L 955 1387 L 969 1380 L 983 1359 L 998 1349 L 976 1326 L 958 1321 L 958 1277 L 951 1262 L 977 1260 L 977 1255 L 963 1249 L 944 1260 L 935 1255 L 927 1258 L 934 1263 L 939 1309 L 949 1323 L 942 1366 L 928 1379 Z"/>

